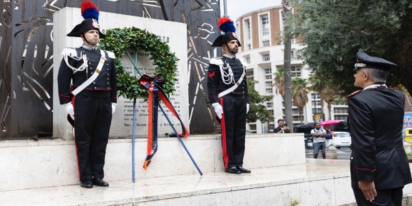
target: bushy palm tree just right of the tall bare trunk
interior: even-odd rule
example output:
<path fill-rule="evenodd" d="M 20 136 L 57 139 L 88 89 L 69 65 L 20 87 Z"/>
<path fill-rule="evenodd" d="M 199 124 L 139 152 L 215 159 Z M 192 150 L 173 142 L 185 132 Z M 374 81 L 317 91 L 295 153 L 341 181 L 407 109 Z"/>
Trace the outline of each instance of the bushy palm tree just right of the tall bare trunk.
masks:
<path fill-rule="evenodd" d="M 301 123 L 304 122 L 304 106 L 308 103 L 308 80 L 302 78 L 293 78 L 292 80 L 292 97 L 293 103 L 299 109 Z"/>

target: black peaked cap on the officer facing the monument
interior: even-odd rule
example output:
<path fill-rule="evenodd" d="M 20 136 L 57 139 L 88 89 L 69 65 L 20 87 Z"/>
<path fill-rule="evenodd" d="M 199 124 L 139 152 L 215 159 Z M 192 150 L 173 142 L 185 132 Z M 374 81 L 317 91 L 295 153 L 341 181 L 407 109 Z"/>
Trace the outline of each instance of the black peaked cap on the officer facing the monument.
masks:
<path fill-rule="evenodd" d="M 356 64 L 354 70 L 365 67 L 389 71 L 391 68 L 398 67 L 398 65 L 383 58 L 369 56 L 365 52 L 359 51 L 356 53 Z"/>

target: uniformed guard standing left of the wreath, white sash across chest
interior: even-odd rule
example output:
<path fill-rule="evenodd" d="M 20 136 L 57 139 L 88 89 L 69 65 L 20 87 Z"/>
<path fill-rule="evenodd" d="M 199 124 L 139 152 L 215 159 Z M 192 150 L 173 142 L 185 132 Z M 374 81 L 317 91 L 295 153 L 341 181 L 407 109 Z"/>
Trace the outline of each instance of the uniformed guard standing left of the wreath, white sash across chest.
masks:
<path fill-rule="evenodd" d="M 87 41 L 85 36 L 91 30 L 97 30 L 98 35 L 94 35 L 104 38 L 95 19 L 85 19 L 67 34 L 81 36 L 84 44 L 63 50 L 58 71 L 60 104 L 67 106 L 68 119 L 75 131 L 80 185 L 87 188 L 108 186 L 103 181 L 103 168 L 117 102 L 115 56 Z"/>

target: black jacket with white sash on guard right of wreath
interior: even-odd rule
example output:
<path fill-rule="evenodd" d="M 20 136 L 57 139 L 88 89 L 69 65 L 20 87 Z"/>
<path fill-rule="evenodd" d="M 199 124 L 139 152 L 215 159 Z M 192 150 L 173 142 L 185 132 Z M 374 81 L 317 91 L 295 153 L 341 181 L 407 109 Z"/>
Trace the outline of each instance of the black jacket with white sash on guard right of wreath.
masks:
<path fill-rule="evenodd" d="M 223 65 L 216 65 L 216 62 L 220 62 L 220 60 L 222 60 Z M 233 71 L 233 78 L 235 80 L 235 82 L 231 82 L 231 84 L 225 84 L 222 80 L 222 75 L 220 73 L 220 66 L 227 67 L 227 64 L 230 65 Z M 220 92 L 225 91 L 226 89 L 229 89 L 234 84 L 236 84 L 236 82 L 238 82 L 238 80 L 240 79 L 240 76 L 242 76 L 244 68 L 238 58 L 231 59 L 227 57 L 221 57 L 221 58 L 212 58 L 210 60 L 209 68 L 207 70 L 208 70 L 207 93 L 209 95 L 210 104 L 213 104 L 213 103 L 219 102 L 218 94 Z M 225 69 L 225 71 L 227 70 Z M 244 98 L 246 99 L 247 104 L 249 104 L 249 93 L 247 92 L 246 76 L 244 76 L 242 83 L 238 86 L 238 88 L 232 91 L 231 94 L 244 95 Z"/>

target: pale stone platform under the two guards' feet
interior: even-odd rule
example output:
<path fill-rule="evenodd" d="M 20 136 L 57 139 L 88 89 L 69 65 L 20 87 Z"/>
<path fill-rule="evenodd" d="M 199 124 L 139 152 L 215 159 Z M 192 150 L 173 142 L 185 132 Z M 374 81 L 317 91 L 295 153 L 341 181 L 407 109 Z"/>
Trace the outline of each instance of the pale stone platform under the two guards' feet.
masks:
<path fill-rule="evenodd" d="M 109 187 L 43 187 L 0 193 L 0 205 L 350 205 L 349 161 L 307 159 L 303 165 L 111 181 Z M 404 188 L 411 194 L 412 187 Z"/>

